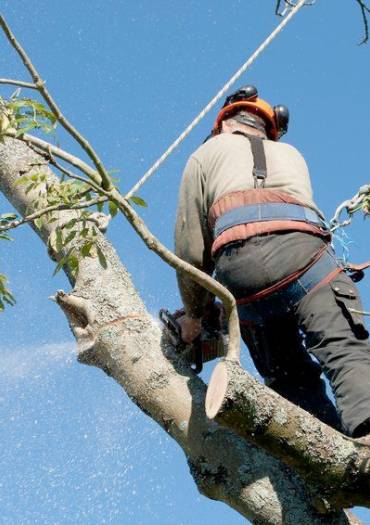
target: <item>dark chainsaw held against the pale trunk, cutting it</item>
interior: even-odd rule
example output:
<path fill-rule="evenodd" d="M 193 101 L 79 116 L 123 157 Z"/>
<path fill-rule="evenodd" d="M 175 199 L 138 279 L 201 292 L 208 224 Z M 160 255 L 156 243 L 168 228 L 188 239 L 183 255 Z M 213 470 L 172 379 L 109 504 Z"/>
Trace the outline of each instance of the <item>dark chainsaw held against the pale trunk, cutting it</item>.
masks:
<path fill-rule="evenodd" d="M 223 357 L 227 351 L 228 333 L 223 308 L 220 303 L 212 303 L 202 318 L 202 330 L 191 344 L 181 338 L 181 326 L 178 319 L 185 315 L 185 310 L 170 313 L 162 308 L 159 311 L 166 336 L 176 351 L 184 355 L 196 374 L 203 370 L 203 363 Z"/>

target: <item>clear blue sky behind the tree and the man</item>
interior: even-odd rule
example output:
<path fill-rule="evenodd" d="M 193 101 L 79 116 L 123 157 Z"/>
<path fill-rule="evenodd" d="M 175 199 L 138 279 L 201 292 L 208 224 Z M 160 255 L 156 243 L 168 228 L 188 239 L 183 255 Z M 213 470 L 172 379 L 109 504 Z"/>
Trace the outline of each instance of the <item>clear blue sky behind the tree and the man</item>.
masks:
<path fill-rule="evenodd" d="M 66 115 L 122 190 L 193 119 L 279 22 L 273 0 L 12 0 L 3 14 Z M 340 7 L 338 7 L 340 4 Z M 330 216 L 369 181 L 369 46 L 354 0 L 303 9 L 240 83 L 291 111 L 284 139 L 304 154 L 316 201 Z M 0 36 L 0 77 L 28 79 Z M 9 90 L 3 88 L 3 95 Z M 172 246 L 181 172 L 216 110 L 146 184 L 143 217 Z M 60 133 L 64 148 L 80 154 Z M 0 211 L 10 206 L 0 197 Z M 369 258 L 368 224 L 348 230 L 354 261 Z M 179 305 L 174 273 L 122 219 L 108 237 L 150 312 Z M 4 244 L 4 246 L 3 246 Z M 45 247 L 28 229 L 0 247 L 17 306 L 1 315 L 0 523 L 6 525 L 238 525 L 198 495 L 182 452 L 101 371 L 78 365 L 63 315 L 48 297 Z M 361 285 L 369 304 L 369 281 Z M 245 366 L 251 369 L 245 358 Z M 208 367 L 206 374 L 211 367 Z M 5 451 L 5 453 L 4 453 Z M 370 522 L 368 511 L 359 511 Z M 366 521 L 367 520 L 367 521 Z"/>

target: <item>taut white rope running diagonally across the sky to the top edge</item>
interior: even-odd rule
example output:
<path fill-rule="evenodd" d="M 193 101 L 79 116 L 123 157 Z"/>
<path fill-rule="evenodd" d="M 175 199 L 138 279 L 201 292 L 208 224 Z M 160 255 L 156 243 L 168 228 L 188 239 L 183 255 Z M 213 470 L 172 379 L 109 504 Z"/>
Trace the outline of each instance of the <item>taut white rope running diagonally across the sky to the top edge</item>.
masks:
<path fill-rule="evenodd" d="M 269 37 L 256 49 L 253 55 L 242 65 L 242 67 L 233 75 L 230 80 L 224 85 L 224 87 L 217 93 L 217 95 L 207 104 L 207 106 L 199 113 L 199 115 L 189 124 L 189 126 L 181 133 L 181 135 L 171 144 L 171 146 L 163 153 L 161 157 L 148 169 L 142 176 L 142 178 L 131 188 L 126 194 L 125 198 L 129 199 L 132 195 L 137 192 L 138 189 L 157 171 L 157 169 L 163 164 L 163 162 L 171 155 L 174 149 L 181 144 L 181 142 L 193 131 L 195 126 L 207 115 L 207 113 L 217 104 L 230 87 L 236 82 L 243 73 L 255 62 L 260 54 L 267 48 L 267 46 L 274 40 L 275 37 L 284 29 L 287 23 L 293 18 L 295 14 L 305 5 L 306 0 L 300 0 L 295 7 L 292 8 L 290 13 L 284 18 L 284 20 L 274 29 Z"/>

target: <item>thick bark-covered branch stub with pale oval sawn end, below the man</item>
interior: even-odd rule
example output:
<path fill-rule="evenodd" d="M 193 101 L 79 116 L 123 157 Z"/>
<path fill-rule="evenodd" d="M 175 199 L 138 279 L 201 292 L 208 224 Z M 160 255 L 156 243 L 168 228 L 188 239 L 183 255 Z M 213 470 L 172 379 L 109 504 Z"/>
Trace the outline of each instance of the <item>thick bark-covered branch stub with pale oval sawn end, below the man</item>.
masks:
<path fill-rule="evenodd" d="M 215 367 L 206 414 L 284 461 L 334 507 L 370 507 L 370 447 L 267 389 L 238 363 Z"/>

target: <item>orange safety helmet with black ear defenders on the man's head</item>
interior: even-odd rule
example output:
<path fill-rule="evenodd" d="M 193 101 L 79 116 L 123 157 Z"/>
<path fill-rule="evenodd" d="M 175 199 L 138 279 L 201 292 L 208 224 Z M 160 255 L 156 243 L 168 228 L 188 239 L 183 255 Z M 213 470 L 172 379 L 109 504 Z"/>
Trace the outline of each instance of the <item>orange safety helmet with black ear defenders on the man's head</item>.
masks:
<path fill-rule="evenodd" d="M 258 97 L 257 89 L 254 86 L 244 86 L 226 98 L 225 104 L 217 115 L 212 135 L 220 133 L 224 119 L 242 110 L 262 118 L 266 125 L 267 137 L 271 140 L 279 140 L 288 131 L 288 108 L 282 105 L 272 107 L 268 102 Z M 253 122 L 250 125 L 253 126 Z"/>

